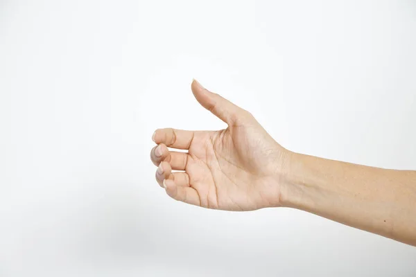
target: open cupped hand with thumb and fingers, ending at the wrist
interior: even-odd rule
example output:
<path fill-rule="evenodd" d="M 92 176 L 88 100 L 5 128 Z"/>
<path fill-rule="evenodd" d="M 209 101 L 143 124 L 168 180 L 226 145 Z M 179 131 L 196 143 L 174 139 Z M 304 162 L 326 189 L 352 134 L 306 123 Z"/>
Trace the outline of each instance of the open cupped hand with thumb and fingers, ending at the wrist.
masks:
<path fill-rule="evenodd" d="M 228 127 L 220 131 L 157 129 L 153 134 L 157 146 L 150 157 L 159 166 L 159 185 L 173 199 L 205 208 L 250 211 L 280 206 L 289 152 L 248 111 L 195 80 L 191 88 L 198 102 Z"/>

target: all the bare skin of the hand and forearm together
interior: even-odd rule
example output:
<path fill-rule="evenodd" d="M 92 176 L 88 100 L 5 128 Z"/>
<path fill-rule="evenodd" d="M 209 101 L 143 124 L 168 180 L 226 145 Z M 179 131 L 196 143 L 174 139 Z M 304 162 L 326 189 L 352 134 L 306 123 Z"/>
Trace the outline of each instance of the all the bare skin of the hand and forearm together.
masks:
<path fill-rule="evenodd" d="M 291 152 L 248 111 L 196 80 L 191 89 L 200 105 L 228 127 L 155 131 L 150 159 L 158 166 L 157 183 L 170 197 L 226 211 L 298 208 L 416 246 L 416 171 Z"/>

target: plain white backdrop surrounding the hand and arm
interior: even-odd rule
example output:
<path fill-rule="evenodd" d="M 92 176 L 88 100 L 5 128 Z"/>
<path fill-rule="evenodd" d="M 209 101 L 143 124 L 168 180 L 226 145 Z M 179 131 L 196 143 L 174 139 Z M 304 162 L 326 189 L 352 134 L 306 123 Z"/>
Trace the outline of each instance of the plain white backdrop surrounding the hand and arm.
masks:
<path fill-rule="evenodd" d="M 1 0 L 0 276 L 415 276 L 309 213 L 175 202 L 149 158 L 225 127 L 197 78 L 289 150 L 416 170 L 415 49 L 411 0 Z"/>

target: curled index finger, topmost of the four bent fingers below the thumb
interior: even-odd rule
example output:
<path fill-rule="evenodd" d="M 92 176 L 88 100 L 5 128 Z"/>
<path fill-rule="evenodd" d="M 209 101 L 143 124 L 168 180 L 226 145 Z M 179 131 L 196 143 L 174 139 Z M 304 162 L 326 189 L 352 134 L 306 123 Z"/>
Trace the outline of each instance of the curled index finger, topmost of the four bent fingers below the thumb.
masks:
<path fill-rule="evenodd" d="M 181 129 L 157 129 L 152 136 L 155 143 L 164 143 L 169 148 L 187 150 L 191 146 L 195 132 Z"/>

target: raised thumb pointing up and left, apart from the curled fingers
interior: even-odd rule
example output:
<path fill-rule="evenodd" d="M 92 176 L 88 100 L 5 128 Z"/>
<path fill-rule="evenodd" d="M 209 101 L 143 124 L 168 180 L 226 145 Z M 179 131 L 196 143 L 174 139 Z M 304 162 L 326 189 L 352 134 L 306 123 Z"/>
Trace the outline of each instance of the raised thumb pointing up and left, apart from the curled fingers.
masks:
<path fill-rule="evenodd" d="M 246 117 L 246 114 L 249 114 L 248 111 L 234 105 L 232 102 L 229 102 L 229 100 L 223 98 L 217 93 L 213 93 L 205 89 L 205 87 L 202 87 L 202 85 L 195 79 L 192 81 L 191 89 L 193 96 L 195 96 L 196 100 L 198 100 L 202 107 L 211 111 L 211 113 L 228 125 L 241 121 L 241 119 Z"/>

